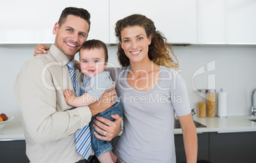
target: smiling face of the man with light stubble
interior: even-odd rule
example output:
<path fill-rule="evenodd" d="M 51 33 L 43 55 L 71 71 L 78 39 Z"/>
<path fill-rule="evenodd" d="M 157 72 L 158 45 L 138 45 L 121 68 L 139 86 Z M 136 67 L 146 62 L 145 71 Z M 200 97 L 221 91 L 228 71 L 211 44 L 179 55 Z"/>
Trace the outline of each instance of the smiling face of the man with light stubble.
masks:
<path fill-rule="evenodd" d="M 82 44 L 87 40 L 89 24 L 86 20 L 74 15 L 69 15 L 66 21 L 59 27 L 55 23 L 53 34 L 55 46 L 64 53 L 69 60 L 72 60 Z"/>

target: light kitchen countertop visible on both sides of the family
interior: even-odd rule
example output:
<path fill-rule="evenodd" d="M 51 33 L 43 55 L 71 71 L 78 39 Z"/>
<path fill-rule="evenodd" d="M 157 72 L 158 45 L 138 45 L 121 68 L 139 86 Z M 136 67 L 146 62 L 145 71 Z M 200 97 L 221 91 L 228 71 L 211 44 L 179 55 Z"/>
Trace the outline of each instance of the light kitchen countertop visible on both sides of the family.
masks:
<path fill-rule="evenodd" d="M 220 117 L 194 117 L 194 121 L 206 127 L 198 127 L 197 133 L 241 133 L 256 131 L 256 122 L 248 119 L 255 119 L 248 115 L 234 115 L 225 118 Z M 182 134 L 181 129 L 174 129 L 174 134 Z M 10 121 L 0 130 L 0 140 L 24 140 L 22 121 Z"/>

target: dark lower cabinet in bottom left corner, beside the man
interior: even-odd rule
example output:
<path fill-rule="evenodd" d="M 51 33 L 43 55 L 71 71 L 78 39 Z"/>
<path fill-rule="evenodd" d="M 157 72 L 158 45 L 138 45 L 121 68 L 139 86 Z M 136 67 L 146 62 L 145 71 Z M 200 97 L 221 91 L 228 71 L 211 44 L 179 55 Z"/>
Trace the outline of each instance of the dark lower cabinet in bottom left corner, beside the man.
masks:
<path fill-rule="evenodd" d="M 1 163 L 29 163 L 25 155 L 25 140 L 0 141 Z"/>

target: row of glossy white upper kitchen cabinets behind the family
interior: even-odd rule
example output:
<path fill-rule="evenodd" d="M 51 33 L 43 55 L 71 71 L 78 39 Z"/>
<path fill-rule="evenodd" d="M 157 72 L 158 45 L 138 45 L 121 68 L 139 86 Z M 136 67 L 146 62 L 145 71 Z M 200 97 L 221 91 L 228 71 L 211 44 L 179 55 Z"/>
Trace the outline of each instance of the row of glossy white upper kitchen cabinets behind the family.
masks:
<path fill-rule="evenodd" d="M 88 39 L 106 44 L 117 43 L 115 23 L 134 13 L 151 18 L 171 44 L 256 44 L 254 0 L 5 1 L 0 5 L 0 44 L 51 44 L 53 26 L 67 6 L 88 10 Z"/>

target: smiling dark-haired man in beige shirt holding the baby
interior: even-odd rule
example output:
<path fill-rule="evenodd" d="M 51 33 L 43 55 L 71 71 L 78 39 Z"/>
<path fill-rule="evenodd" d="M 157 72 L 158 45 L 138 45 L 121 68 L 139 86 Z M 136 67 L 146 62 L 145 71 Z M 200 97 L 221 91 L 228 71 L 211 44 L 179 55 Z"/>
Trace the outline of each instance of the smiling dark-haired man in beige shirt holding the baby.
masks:
<path fill-rule="evenodd" d="M 76 152 L 75 133 L 89 124 L 93 115 L 115 104 L 115 91 L 106 91 L 89 107 L 72 108 L 64 100 L 64 89 L 75 93 L 67 63 L 74 62 L 74 56 L 87 40 L 89 30 L 90 13 L 87 10 L 66 8 L 54 25 L 56 37 L 49 51 L 26 62 L 17 76 L 14 92 L 22 112 L 26 153 L 31 163 L 87 162 Z M 78 70 L 76 79 L 82 79 Z M 118 115 L 113 117 L 115 122 L 102 117 L 98 119 L 108 126 L 96 121 L 96 125 L 101 127 L 96 126 L 96 131 L 109 136 L 94 133 L 97 138 L 111 140 L 120 133 L 122 119 Z"/>

